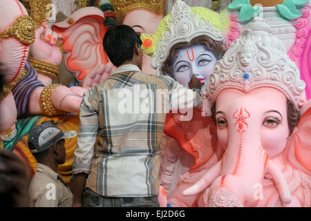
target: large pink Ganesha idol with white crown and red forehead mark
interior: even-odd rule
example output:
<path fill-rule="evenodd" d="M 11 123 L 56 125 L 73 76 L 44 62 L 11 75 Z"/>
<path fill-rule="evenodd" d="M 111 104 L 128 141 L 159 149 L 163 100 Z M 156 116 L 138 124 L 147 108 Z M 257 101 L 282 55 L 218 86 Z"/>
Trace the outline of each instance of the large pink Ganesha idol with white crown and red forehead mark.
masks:
<path fill-rule="evenodd" d="M 311 100 L 304 90 L 283 43 L 253 19 L 205 90 L 204 111 L 225 153 L 183 194 L 196 195 L 199 206 L 310 207 Z"/>

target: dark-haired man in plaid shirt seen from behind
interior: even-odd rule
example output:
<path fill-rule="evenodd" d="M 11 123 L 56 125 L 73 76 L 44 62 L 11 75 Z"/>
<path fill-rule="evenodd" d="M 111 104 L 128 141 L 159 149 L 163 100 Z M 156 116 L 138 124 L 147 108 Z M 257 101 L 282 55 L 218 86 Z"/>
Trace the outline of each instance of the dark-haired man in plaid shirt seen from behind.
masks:
<path fill-rule="evenodd" d="M 84 93 L 74 154 L 73 206 L 159 206 L 160 140 L 168 111 L 185 120 L 200 106 L 199 79 L 190 88 L 142 69 L 142 41 L 129 26 L 113 26 L 104 48 L 117 66 Z M 190 114 L 189 114 L 190 113 Z M 83 192 L 84 199 L 83 199 Z"/>

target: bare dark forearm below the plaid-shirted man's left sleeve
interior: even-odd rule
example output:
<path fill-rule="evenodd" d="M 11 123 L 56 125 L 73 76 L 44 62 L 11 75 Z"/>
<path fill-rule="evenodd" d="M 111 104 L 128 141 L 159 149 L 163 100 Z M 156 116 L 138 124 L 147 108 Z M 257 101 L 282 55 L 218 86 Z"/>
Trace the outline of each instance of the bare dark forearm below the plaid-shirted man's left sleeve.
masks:
<path fill-rule="evenodd" d="M 78 173 L 74 175 L 73 180 L 70 180 L 69 186 L 73 193 L 73 207 L 82 207 L 83 192 L 87 176 L 86 173 Z"/>

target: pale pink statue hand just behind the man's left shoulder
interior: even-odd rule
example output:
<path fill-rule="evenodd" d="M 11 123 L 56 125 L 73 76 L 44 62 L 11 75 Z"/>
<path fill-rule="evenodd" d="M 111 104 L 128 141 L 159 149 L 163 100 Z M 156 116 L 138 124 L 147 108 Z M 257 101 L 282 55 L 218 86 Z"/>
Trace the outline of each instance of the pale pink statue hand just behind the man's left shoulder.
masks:
<path fill-rule="evenodd" d="M 88 89 L 96 84 L 100 84 L 113 73 L 113 70 L 115 70 L 115 66 L 113 66 L 111 62 L 100 64 L 100 66 L 91 70 L 88 75 L 86 75 L 83 81 L 83 87 Z"/>

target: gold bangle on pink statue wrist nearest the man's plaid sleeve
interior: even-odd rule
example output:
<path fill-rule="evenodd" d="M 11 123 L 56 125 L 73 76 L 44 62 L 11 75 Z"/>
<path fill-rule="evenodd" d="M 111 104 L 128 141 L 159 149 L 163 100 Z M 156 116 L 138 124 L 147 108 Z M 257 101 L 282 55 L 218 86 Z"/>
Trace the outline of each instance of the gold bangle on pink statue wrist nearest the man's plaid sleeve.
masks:
<path fill-rule="evenodd" d="M 42 90 L 42 93 L 39 99 L 39 105 L 44 115 L 54 116 L 54 115 L 59 115 L 61 113 L 66 113 L 66 112 L 57 110 L 57 108 L 55 108 L 55 106 L 53 106 L 52 104 L 52 100 L 51 100 L 52 92 L 58 86 L 62 86 L 62 84 L 51 84 L 47 86 L 46 88 L 44 88 L 44 90 Z"/>

